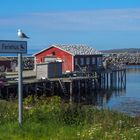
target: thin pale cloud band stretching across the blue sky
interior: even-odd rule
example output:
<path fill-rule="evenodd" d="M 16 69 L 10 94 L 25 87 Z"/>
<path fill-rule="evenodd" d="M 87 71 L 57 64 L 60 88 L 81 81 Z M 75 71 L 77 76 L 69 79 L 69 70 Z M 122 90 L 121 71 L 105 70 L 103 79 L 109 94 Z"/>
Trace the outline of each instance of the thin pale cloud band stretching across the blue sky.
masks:
<path fill-rule="evenodd" d="M 30 13 L 0 18 L 0 26 L 31 26 L 40 30 L 136 31 L 140 30 L 140 9 L 105 9 Z"/>

